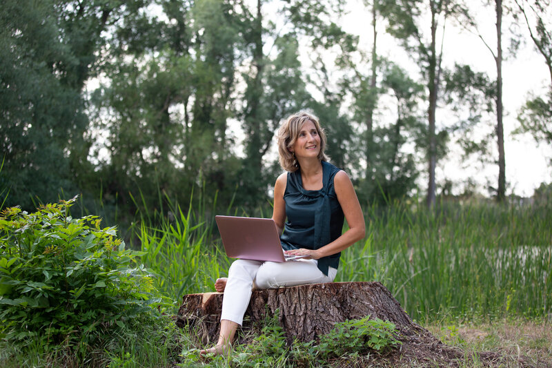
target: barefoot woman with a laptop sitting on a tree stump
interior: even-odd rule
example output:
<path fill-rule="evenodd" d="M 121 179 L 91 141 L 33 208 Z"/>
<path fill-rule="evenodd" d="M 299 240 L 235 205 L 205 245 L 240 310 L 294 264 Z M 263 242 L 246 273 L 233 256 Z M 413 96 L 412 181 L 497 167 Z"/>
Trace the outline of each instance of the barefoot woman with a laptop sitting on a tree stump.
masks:
<path fill-rule="evenodd" d="M 219 340 L 201 354 L 230 350 L 252 289 L 332 282 L 341 251 L 364 238 L 364 216 L 353 184 L 344 171 L 328 163 L 325 146 L 324 130 L 308 113 L 291 115 L 279 128 L 279 162 L 287 172 L 274 186 L 272 218 L 284 252 L 306 257 L 283 263 L 233 262 L 228 278 L 215 282 L 215 289 L 224 292 Z M 344 217 L 349 229 L 342 233 Z"/>

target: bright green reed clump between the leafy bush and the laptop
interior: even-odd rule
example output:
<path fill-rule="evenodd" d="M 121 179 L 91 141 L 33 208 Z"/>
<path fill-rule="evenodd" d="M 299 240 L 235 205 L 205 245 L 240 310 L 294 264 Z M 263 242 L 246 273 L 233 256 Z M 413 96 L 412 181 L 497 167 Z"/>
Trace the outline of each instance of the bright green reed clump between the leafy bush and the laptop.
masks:
<path fill-rule="evenodd" d="M 155 285 L 164 296 L 178 302 L 187 293 L 213 290 L 215 280 L 230 266 L 219 246 L 215 226 L 217 197 L 208 209 L 202 193 L 192 207 L 183 211 L 170 198 L 159 196 L 159 209 L 149 211 L 145 202 L 133 231 L 141 261 L 155 273 Z M 190 199 L 190 203 L 193 199 Z M 226 213 L 230 213 L 228 207 Z M 237 210 L 235 210 L 235 213 Z"/>

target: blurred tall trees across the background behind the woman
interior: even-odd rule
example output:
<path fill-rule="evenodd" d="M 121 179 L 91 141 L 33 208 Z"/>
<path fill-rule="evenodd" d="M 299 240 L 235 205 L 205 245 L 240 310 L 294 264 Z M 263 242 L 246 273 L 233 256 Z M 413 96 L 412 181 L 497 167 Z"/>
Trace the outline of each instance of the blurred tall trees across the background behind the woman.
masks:
<path fill-rule="evenodd" d="M 551 4 L 506 5 L 551 70 L 549 92 L 510 113 L 519 114 L 520 132 L 551 142 Z M 431 206 L 439 189 L 450 189 L 435 168 L 453 139 L 462 155 L 500 166 L 489 190 L 504 200 L 504 152 L 495 161 L 488 147 L 492 139 L 500 151 L 500 37 L 493 46 L 496 79 L 442 64 L 445 26 L 464 21 L 475 29 L 472 4 L 366 0 L 358 9 L 366 12 L 368 48 L 344 30 L 347 6 L 6 0 L 0 14 L 5 205 L 31 209 L 83 193 L 105 211 L 132 216 L 139 206 L 157 209 L 163 198 L 189 204 L 201 192 L 207 204 L 216 197 L 221 207 L 264 206 L 281 170 L 275 132 L 301 109 L 321 119 L 328 154 L 351 175 L 363 204 L 420 193 Z M 380 28 L 408 52 L 413 68 L 380 55 Z"/>

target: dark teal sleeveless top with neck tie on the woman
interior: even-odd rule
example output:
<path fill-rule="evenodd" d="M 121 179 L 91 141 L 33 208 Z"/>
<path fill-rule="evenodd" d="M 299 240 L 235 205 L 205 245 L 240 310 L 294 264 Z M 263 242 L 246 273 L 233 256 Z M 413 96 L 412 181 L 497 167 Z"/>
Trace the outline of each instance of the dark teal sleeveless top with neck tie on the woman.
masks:
<path fill-rule="evenodd" d="M 301 171 L 288 173 L 284 192 L 286 216 L 284 233 L 280 237 L 282 248 L 319 249 L 339 238 L 343 231 L 343 210 L 333 186 L 339 168 L 322 161 L 322 189 L 306 191 Z M 318 260 L 318 269 L 328 275 L 328 267 L 337 269 L 341 252 Z"/>

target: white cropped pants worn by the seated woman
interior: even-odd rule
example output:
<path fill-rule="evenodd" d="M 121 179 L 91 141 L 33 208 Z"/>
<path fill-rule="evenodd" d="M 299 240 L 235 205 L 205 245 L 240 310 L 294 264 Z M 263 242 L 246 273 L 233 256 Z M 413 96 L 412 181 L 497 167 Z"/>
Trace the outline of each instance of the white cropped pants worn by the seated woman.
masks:
<path fill-rule="evenodd" d="M 337 269 L 330 267 L 328 275 L 324 275 L 318 269 L 316 260 L 289 262 L 235 260 L 228 270 L 220 319 L 242 325 L 253 289 L 277 289 L 333 282 L 336 274 Z"/>

